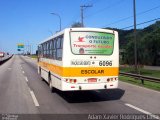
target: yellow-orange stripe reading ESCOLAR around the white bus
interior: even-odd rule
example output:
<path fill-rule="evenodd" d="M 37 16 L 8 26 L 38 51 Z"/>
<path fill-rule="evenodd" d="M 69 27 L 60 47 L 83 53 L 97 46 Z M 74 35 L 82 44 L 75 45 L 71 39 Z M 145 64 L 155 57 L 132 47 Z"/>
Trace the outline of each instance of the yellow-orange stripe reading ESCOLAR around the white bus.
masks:
<path fill-rule="evenodd" d="M 62 77 L 92 77 L 118 76 L 118 67 L 60 67 L 46 62 L 39 62 L 39 66 Z"/>

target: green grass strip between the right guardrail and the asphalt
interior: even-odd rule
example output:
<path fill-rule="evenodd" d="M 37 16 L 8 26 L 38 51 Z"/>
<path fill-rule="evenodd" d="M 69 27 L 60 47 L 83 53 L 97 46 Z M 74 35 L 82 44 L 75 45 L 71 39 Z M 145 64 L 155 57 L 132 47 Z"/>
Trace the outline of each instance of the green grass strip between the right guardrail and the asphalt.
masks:
<path fill-rule="evenodd" d="M 160 83 L 155 83 L 155 82 L 150 82 L 150 81 L 144 80 L 144 84 L 142 84 L 141 80 L 126 77 L 126 76 L 120 76 L 119 79 L 120 79 L 120 81 L 123 81 L 123 82 L 127 82 L 127 83 L 131 83 L 131 84 L 138 85 L 141 87 L 160 91 Z"/>

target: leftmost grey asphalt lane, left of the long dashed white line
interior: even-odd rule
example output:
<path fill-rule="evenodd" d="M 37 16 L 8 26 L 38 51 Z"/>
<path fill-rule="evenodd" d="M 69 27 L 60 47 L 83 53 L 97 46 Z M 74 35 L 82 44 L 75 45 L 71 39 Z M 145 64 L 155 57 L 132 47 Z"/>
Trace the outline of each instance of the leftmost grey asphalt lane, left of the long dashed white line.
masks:
<path fill-rule="evenodd" d="M 37 113 L 15 56 L 0 66 L 0 113 Z"/>

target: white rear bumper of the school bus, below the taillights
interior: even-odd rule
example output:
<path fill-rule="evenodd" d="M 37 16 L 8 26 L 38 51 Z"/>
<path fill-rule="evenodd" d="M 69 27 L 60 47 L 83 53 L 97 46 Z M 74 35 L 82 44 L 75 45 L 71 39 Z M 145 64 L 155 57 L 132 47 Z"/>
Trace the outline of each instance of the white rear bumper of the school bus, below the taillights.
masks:
<path fill-rule="evenodd" d="M 118 80 L 111 83 L 92 83 L 92 84 L 71 84 L 62 82 L 62 91 L 80 91 L 80 90 L 102 90 L 115 89 L 118 87 Z"/>

